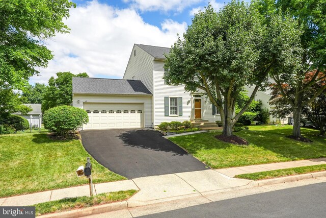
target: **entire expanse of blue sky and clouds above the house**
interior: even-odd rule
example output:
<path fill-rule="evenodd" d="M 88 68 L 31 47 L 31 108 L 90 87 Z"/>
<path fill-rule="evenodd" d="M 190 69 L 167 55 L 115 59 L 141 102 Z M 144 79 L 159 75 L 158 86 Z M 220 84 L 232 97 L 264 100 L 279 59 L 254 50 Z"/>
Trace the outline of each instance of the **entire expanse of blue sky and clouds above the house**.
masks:
<path fill-rule="evenodd" d="M 90 77 L 121 79 L 134 43 L 171 47 L 186 31 L 194 13 L 219 0 L 75 0 L 64 22 L 69 34 L 46 41 L 55 55 L 47 68 L 30 79 L 45 83 L 56 72 L 87 72 Z"/>

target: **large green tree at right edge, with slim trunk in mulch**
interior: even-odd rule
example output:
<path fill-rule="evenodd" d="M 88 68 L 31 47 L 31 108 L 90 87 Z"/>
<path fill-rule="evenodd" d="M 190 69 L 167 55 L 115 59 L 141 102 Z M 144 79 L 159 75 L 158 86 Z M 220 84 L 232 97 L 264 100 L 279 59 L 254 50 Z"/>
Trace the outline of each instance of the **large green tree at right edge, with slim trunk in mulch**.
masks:
<path fill-rule="evenodd" d="M 300 65 L 293 65 L 293 70 L 273 71 L 282 98 L 292 108 L 293 133 L 301 138 L 300 120 L 302 109 L 312 103 L 326 89 L 326 84 L 318 89 L 314 84 L 326 78 L 326 2 L 325 0 L 258 0 L 254 2 L 261 14 L 290 14 L 300 28 Z M 306 75 L 313 72 L 310 81 Z M 284 87 L 294 90 L 293 96 L 287 95 Z"/>

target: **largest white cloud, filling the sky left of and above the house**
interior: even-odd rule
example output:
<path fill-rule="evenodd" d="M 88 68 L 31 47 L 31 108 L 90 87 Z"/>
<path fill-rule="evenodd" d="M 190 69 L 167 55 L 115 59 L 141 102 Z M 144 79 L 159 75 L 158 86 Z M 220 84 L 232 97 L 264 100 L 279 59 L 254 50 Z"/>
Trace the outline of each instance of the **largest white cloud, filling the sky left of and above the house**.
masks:
<path fill-rule="evenodd" d="M 30 82 L 47 83 L 58 71 L 87 72 L 91 77 L 122 78 L 134 43 L 170 47 L 186 23 L 167 19 L 161 29 L 144 22 L 133 9 L 116 9 L 97 1 L 72 9 L 65 23 L 70 34 L 47 40 L 55 58 Z"/>

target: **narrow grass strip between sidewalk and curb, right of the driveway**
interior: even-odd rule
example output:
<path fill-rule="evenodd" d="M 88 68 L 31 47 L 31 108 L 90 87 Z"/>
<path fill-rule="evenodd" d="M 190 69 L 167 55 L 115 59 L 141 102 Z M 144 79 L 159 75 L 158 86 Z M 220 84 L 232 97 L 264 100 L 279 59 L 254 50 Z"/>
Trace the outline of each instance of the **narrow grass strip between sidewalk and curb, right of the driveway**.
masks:
<path fill-rule="evenodd" d="M 313 166 L 301 166 L 286 169 L 276 169 L 275 171 L 264 171 L 252 174 L 241 174 L 236 175 L 235 178 L 239 179 L 250 179 L 250 180 L 262 180 L 262 179 L 272 179 L 284 176 L 294 176 L 300 174 L 314 173 L 326 171 L 326 164 L 313 165 Z"/>

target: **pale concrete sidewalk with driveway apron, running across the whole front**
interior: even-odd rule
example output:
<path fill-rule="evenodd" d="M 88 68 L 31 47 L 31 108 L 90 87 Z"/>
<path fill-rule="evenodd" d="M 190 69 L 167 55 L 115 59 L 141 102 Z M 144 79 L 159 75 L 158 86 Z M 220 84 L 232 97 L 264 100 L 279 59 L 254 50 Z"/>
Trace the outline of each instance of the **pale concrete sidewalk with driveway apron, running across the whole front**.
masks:
<path fill-rule="evenodd" d="M 137 207 L 258 186 L 257 181 L 232 178 L 238 174 L 317 164 L 326 164 L 326 158 L 142 177 L 95 184 L 94 189 L 95 194 L 129 189 L 140 190 L 128 200 L 128 207 Z M 79 196 L 89 196 L 88 185 L 2 198 L 0 206 L 27 206 Z"/>

